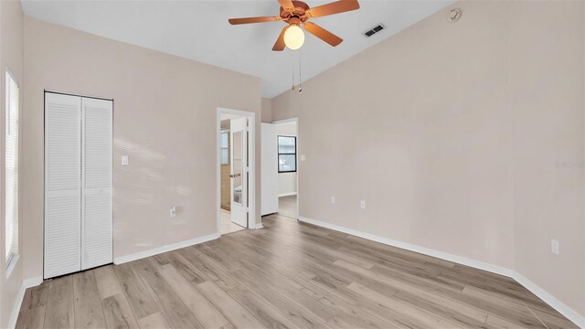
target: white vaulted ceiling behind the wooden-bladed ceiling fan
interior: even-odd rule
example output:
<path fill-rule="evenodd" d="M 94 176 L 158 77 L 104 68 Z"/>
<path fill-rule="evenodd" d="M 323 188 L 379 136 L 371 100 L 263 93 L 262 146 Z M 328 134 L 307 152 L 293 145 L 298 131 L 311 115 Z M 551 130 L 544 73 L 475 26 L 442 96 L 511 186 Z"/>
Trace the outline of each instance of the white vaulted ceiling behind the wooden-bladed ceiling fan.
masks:
<path fill-rule="evenodd" d="M 310 6 L 328 2 L 306 1 Z M 259 77 L 262 97 L 272 98 L 291 88 L 293 68 L 298 83 L 300 58 L 303 80 L 308 80 L 452 2 L 362 0 L 359 10 L 312 20 L 342 37 L 341 45 L 330 47 L 307 33 L 303 48 L 282 52 L 271 48 L 284 23 L 228 23 L 231 17 L 277 16 L 277 0 L 25 0 L 22 5 L 27 16 Z M 364 37 L 379 23 L 387 29 Z"/>

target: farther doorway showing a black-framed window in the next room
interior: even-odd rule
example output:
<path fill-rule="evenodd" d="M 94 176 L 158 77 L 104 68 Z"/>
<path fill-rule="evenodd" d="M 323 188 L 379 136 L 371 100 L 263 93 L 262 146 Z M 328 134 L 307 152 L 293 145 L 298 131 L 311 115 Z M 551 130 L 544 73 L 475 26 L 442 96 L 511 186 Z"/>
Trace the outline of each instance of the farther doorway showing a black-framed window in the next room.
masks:
<path fill-rule="evenodd" d="M 298 203 L 298 121 L 296 118 L 274 122 L 278 155 L 278 213 L 299 218 Z"/>

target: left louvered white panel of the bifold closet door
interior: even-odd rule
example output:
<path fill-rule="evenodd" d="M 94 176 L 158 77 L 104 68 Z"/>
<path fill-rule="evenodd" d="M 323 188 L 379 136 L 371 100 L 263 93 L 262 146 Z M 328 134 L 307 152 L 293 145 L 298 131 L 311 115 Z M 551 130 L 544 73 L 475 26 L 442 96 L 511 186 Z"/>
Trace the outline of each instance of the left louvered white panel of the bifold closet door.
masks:
<path fill-rule="evenodd" d="M 45 97 L 46 279 L 81 270 L 81 99 Z"/>

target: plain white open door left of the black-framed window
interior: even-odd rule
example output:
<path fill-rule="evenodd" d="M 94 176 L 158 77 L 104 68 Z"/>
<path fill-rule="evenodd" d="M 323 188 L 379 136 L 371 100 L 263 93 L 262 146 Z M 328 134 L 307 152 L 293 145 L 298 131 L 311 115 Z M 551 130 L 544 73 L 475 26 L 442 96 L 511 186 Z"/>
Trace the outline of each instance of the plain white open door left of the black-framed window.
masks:
<path fill-rule="evenodd" d="M 276 124 L 261 123 L 262 136 L 262 212 L 261 216 L 278 212 L 278 147 Z"/>

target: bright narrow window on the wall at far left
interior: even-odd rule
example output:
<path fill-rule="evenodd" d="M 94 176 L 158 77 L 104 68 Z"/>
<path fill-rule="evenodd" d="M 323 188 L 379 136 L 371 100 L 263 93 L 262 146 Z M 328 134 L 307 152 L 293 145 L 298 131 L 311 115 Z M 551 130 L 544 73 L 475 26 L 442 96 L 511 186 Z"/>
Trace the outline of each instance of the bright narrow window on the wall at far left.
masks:
<path fill-rule="evenodd" d="M 5 260 L 11 271 L 18 258 L 18 84 L 6 69 Z"/>

